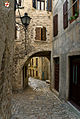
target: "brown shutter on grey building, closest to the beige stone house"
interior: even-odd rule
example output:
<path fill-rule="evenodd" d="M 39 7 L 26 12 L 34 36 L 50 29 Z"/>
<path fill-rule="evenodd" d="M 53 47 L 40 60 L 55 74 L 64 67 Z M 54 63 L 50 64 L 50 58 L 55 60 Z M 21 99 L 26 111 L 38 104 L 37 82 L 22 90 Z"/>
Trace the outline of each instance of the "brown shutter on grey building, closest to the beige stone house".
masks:
<path fill-rule="evenodd" d="M 53 17 L 53 34 L 54 37 L 58 34 L 58 14 Z"/>

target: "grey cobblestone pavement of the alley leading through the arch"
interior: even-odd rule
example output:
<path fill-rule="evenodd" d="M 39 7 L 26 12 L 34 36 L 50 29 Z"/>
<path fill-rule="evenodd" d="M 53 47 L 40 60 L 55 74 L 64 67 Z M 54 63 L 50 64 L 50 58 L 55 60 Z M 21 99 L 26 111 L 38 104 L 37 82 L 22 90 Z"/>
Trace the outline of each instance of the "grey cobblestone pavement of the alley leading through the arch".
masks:
<path fill-rule="evenodd" d="M 44 81 L 29 78 L 29 87 L 13 94 L 11 119 L 80 119 Z"/>

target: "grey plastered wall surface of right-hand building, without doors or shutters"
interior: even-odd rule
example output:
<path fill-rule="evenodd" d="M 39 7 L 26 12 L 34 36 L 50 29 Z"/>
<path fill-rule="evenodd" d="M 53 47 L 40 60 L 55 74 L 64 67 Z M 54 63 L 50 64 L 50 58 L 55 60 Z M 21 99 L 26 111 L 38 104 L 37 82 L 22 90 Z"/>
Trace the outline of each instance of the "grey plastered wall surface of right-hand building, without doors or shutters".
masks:
<path fill-rule="evenodd" d="M 63 29 L 63 4 L 65 0 L 54 1 L 53 15 L 58 14 L 58 35 L 53 37 L 53 57 L 59 57 L 59 96 L 67 99 L 69 96 L 69 56 L 80 55 L 80 17 Z M 54 3 L 53 3 L 54 4 Z M 68 0 L 68 9 L 71 1 Z M 68 13 L 68 19 L 72 9 Z M 53 75 L 54 85 L 54 75 Z M 54 87 L 53 87 L 54 88 Z"/>

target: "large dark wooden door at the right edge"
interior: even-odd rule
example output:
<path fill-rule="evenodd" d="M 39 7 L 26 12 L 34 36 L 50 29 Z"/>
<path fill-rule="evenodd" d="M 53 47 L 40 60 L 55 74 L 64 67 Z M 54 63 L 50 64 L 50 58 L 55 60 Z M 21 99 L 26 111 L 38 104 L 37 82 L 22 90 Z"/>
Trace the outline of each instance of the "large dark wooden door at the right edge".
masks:
<path fill-rule="evenodd" d="M 80 106 L 80 56 L 71 58 L 70 100 Z"/>

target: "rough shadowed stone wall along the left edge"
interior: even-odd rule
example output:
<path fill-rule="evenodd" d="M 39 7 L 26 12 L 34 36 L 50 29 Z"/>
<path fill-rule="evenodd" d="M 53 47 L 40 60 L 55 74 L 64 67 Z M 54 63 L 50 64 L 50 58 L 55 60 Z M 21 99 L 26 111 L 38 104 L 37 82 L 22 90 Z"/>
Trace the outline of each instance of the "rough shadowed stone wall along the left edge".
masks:
<path fill-rule="evenodd" d="M 12 93 L 12 67 L 14 43 L 13 1 L 5 7 L 5 0 L 0 1 L 0 119 L 10 119 Z"/>

